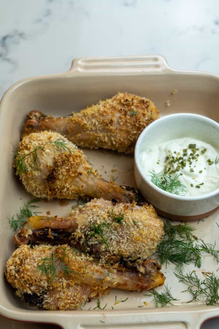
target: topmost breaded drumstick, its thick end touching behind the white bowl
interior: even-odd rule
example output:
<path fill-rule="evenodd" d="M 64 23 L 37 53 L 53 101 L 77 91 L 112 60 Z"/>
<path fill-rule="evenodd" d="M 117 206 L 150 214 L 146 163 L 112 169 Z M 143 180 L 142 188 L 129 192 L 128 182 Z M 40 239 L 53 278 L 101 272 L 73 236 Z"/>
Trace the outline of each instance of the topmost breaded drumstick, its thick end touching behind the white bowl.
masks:
<path fill-rule="evenodd" d="M 51 130 L 80 147 L 133 154 L 142 130 L 158 117 L 159 111 L 149 99 L 119 92 L 67 117 L 54 118 L 31 111 L 21 138 L 33 132 Z"/>

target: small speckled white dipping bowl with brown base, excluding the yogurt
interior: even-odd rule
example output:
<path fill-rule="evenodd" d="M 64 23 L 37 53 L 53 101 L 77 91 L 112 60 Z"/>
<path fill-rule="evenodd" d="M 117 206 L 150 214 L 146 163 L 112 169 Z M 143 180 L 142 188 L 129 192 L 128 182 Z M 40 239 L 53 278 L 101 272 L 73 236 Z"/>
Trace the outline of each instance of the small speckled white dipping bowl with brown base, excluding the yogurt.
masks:
<path fill-rule="evenodd" d="M 206 116 L 177 113 L 166 115 L 147 126 L 135 147 L 135 180 L 145 199 L 157 213 L 175 220 L 197 220 L 208 217 L 219 208 L 219 188 L 201 196 L 179 196 L 154 185 L 144 172 L 140 155 L 149 145 L 178 138 L 205 141 L 218 149 L 219 124 Z M 148 158 L 148 161 L 150 159 Z"/>

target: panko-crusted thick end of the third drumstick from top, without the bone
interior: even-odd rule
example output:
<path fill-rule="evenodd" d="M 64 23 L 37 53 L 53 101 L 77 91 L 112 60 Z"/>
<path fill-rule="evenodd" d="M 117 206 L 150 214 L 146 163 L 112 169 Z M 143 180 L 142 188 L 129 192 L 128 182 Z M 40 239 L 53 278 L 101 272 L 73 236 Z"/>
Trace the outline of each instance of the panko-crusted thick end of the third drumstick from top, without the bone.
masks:
<path fill-rule="evenodd" d="M 164 225 L 152 205 L 138 206 L 94 199 L 83 208 L 77 207 L 69 216 L 77 218 L 78 228 L 73 233 L 80 248 L 103 263 L 124 260 L 145 260 L 154 252 L 164 234 Z M 117 218 L 119 222 L 117 221 Z M 100 225 L 100 234 L 93 234 Z M 73 242 L 74 242 L 73 240 Z M 97 256 L 98 255 L 98 256 Z"/>

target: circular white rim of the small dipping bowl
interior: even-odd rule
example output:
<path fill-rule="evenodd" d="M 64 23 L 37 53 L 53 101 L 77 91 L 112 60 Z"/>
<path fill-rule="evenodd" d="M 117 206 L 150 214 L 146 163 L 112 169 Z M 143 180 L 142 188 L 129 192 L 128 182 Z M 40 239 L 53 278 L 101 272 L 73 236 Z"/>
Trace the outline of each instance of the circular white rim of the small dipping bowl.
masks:
<path fill-rule="evenodd" d="M 168 114 L 168 115 L 164 115 L 162 117 L 160 117 L 159 119 L 155 120 L 154 122 L 150 123 L 146 128 L 144 128 L 144 130 L 142 131 L 142 133 L 140 134 L 139 138 L 137 139 L 136 145 L 135 145 L 135 153 L 134 153 L 134 158 L 135 158 L 135 164 L 136 167 L 138 168 L 138 171 L 140 172 L 140 175 L 142 177 L 142 179 L 148 184 L 150 185 L 150 187 L 154 190 L 156 190 L 158 193 L 163 194 L 164 196 L 167 197 L 171 197 L 175 200 L 180 200 L 180 201 L 201 201 L 201 200 L 205 200 L 211 197 L 216 196 L 217 194 L 219 194 L 219 188 L 216 190 L 213 190 L 209 193 L 203 194 L 203 195 L 199 195 L 199 196 L 182 196 L 182 195 L 177 195 L 177 194 L 172 194 L 170 192 L 166 192 L 162 189 L 160 189 L 159 187 L 157 187 L 156 185 L 154 185 L 145 175 L 145 173 L 142 170 L 142 166 L 140 164 L 140 145 L 142 143 L 142 139 L 144 138 L 145 132 L 148 132 L 152 127 L 160 124 L 160 122 L 168 120 L 168 118 L 170 117 L 190 117 L 190 118 L 197 118 L 199 120 L 202 121 L 206 121 L 206 123 L 208 123 L 211 126 L 214 126 L 218 129 L 218 137 L 219 137 L 219 123 L 217 121 L 214 121 L 210 118 L 208 118 L 207 116 L 204 115 L 200 115 L 200 114 L 195 114 L 195 113 L 174 113 L 174 114 Z"/>

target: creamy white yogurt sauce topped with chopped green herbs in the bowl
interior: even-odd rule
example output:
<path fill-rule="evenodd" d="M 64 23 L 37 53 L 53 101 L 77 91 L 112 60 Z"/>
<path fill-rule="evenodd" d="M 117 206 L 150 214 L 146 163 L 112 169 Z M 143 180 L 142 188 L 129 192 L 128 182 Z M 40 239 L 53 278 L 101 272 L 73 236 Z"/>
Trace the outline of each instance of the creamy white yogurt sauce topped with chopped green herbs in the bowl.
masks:
<path fill-rule="evenodd" d="M 169 178 L 177 175 L 180 188 L 174 194 L 199 196 L 219 188 L 219 152 L 201 140 L 180 138 L 147 147 L 140 163 L 147 177 L 166 191 Z"/>

